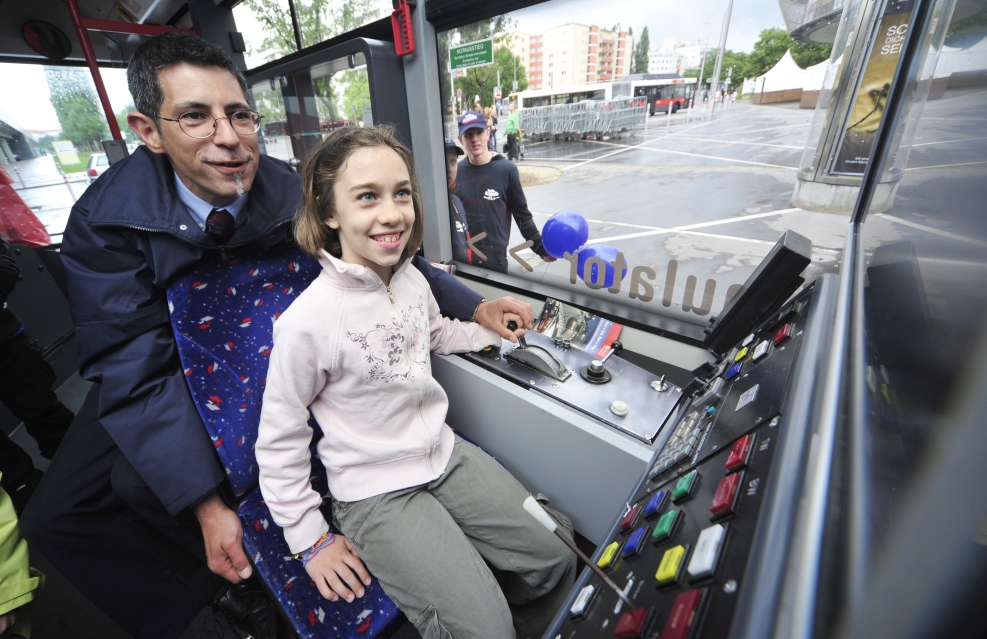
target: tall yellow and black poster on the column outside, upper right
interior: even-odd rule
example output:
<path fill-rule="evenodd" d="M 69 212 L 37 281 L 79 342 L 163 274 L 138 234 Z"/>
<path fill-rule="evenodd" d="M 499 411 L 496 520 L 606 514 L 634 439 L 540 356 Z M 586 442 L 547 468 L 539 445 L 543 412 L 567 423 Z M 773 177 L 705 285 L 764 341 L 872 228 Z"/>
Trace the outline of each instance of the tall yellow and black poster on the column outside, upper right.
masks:
<path fill-rule="evenodd" d="M 905 44 L 914 0 L 888 0 L 861 74 L 830 173 L 863 175 L 884 115 L 891 79 Z"/>

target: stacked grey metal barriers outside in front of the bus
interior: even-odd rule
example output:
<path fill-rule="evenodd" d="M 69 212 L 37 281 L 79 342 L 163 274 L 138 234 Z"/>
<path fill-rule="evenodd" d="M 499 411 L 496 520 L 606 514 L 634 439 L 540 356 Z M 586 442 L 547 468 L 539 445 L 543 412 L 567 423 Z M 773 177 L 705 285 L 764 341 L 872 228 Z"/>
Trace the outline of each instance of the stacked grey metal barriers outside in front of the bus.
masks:
<path fill-rule="evenodd" d="M 527 138 L 535 140 L 620 137 L 643 126 L 647 113 L 644 98 L 553 104 L 521 109 L 521 129 Z"/>

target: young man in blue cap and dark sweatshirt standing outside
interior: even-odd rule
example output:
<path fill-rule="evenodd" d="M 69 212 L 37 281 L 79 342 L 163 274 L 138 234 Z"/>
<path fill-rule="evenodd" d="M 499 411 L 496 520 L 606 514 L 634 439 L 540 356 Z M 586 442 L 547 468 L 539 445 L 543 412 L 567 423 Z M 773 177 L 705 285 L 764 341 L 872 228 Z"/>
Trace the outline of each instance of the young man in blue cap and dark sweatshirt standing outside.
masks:
<path fill-rule="evenodd" d="M 521 189 L 517 166 L 487 148 L 490 131 L 482 113 L 467 111 L 459 118 L 459 141 L 466 147 L 466 158 L 459 162 L 456 195 L 466 207 L 466 219 L 474 236 L 485 232 L 473 243 L 473 264 L 507 272 L 507 246 L 511 240 L 511 217 L 517 222 L 524 239 L 531 240 L 531 250 L 546 262 L 554 262 L 542 246 L 541 233 L 528 210 L 528 200 Z M 478 253 L 483 253 L 481 258 Z"/>

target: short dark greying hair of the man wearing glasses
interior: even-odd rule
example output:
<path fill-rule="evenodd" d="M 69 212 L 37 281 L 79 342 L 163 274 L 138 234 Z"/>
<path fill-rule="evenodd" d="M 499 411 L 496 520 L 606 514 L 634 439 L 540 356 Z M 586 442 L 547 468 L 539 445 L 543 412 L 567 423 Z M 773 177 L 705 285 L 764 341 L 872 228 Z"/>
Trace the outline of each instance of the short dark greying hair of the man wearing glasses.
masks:
<path fill-rule="evenodd" d="M 141 43 L 127 66 L 127 86 L 137 110 L 154 120 L 161 131 L 161 104 L 164 91 L 158 73 L 187 62 L 198 67 L 219 67 L 236 78 L 247 97 L 247 80 L 232 58 L 219 46 L 187 33 L 163 33 Z"/>

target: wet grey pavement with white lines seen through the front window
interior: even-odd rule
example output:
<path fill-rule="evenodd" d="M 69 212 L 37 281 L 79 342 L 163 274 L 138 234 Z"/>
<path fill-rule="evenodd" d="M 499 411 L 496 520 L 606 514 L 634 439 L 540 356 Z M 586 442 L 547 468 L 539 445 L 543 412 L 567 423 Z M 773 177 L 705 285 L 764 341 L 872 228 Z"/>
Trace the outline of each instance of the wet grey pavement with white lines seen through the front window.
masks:
<path fill-rule="evenodd" d="M 560 210 L 581 213 L 587 245 L 622 252 L 628 272 L 619 290 L 592 290 L 578 276 L 572 284 L 570 263 L 546 264 L 528 250 L 521 255 L 534 271 L 512 260 L 511 274 L 705 324 L 786 230 L 812 240 L 807 279 L 835 273 L 849 217 L 790 203 L 812 116 L 797 105 L 737 102 L 705 118 L 655 115 L 620 139 L 526 144 L 521 164 L 564 172 L 525 190 L 539 227 Z M 523 241 L 515 229 L 511 245 Z M 635 267 L 649 269 L 639 271 L 647 285 L 632 286 Z"/>

